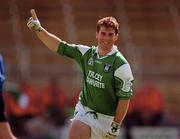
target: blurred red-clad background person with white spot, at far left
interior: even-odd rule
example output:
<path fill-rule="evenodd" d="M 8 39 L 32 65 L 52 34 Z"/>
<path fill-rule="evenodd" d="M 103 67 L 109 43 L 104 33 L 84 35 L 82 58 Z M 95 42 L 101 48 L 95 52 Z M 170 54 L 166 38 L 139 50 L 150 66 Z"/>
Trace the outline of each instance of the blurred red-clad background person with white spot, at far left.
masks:
<path fill-rule="evenodd" d="M 10 88 L 4 94 L 12 130 L 18 137 L 26 136 L 26 122 L 41 112 L 41 103 L 37 91 L 26 79 L 19 77 L 17 86 Z"/>

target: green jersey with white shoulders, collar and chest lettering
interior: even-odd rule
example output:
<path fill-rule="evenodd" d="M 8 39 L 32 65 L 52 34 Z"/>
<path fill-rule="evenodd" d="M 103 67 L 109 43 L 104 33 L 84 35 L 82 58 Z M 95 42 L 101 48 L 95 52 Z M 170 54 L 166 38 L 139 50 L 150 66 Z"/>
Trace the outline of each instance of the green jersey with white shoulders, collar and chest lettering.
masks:
<path fill-rule="evenodd" d="M 98 55 L 98 47 L 61 42 L 57 51 L 73 58 L 83 73 L 79 101 L 96 112 L 114 116 L 119 99 L 132 95 L 131 68 L 116 46 L 106 56 Z"/>

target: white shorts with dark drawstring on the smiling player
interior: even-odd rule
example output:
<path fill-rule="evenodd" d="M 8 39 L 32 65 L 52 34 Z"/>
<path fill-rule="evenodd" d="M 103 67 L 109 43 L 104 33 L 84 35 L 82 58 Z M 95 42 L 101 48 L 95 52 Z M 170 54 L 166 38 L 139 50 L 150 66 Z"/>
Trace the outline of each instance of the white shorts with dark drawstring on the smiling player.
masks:
<path fill-rule="evenodd" d="M 111 129 L 113 116 L 104 115 L 94 110 L 83 106 L 80 102 L 76 104 L 74 117 L 71 119 L 79 120 L 91 128 L 90 139 L 104 139 L 107 131 Z"/>

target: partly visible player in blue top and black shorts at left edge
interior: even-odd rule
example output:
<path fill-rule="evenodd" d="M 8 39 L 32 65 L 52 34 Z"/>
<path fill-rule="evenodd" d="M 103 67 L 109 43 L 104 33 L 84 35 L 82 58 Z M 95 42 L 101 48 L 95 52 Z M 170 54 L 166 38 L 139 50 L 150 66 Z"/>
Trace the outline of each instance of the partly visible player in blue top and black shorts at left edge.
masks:
<path fill-rule="evenodd" d="M 4 64 L 3 58 L 0 54 L 0 139 L 16 139 L 11 132 L 9 123 L 4 114 L 4 101 L 2 94 L 4 80 Z"/>

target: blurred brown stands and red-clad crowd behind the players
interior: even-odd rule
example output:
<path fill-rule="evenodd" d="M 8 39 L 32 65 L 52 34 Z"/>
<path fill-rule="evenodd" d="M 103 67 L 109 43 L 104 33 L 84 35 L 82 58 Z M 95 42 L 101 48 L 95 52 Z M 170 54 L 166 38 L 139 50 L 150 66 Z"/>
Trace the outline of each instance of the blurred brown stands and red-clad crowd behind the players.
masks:
<path fill-rule="evenodd" d="M 48 50 L 27 28 L 32 8 L 49 32 L 89 46 L 96 45 L 97 20 L 116 17 L 117 46 L 135 77 L 119 138 L 180 138 L 179 0 L 1 0 L 4 99 L 17 137 L 66 139 L 81 88 L 76 63 Z"/>

